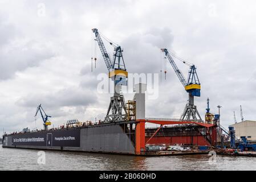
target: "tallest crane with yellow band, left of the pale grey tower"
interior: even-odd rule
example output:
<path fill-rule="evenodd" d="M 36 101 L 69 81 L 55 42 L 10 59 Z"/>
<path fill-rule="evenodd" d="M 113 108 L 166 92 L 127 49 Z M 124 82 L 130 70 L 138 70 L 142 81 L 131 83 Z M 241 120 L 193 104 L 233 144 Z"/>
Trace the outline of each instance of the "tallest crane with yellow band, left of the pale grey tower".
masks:
<path fill-rule="evenodd" d="M 124 96 L 120 94 L 120 90 L 122 85 L 127 85 L 128 72 L 126 71 L 124 64 L 123 49 L 121 49 L 117 44 L 110 42 L 109 39 L 104 38 L 103 35 L 100 35 L 97 28 L 92 29 L 92 32 L 95 34 L 95 40 L 99 45 L 105 65 L 107 66 L 109 78 L 112 78 L 114 81 L 115 91 L 113 97 L 111 97 L 104 122 L 124 121 L 127 118 L 127 110 L 125 108 Z M 104 46 L 101 36 L 114 47 L 115 52 L 113 54 L 112 61 Z"/>

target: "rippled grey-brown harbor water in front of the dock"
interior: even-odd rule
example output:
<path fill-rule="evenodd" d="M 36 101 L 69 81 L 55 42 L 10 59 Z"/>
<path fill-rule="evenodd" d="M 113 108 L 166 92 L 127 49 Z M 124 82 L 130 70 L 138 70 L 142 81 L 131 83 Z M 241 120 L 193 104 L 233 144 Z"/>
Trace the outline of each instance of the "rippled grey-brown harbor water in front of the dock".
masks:
<path fill-rule="evenodd" d="M 45 152 L 45 153 L 44 153 Z M 44 151 L 44 163 L 39 164 L 42 152 L 0 145 L 2 170 L 256 170 L 256 158 L 217 155 L 132 156 L 92 154 L 87 152 Z M 38 162 L 39 161 L 39 162 Z"/>

